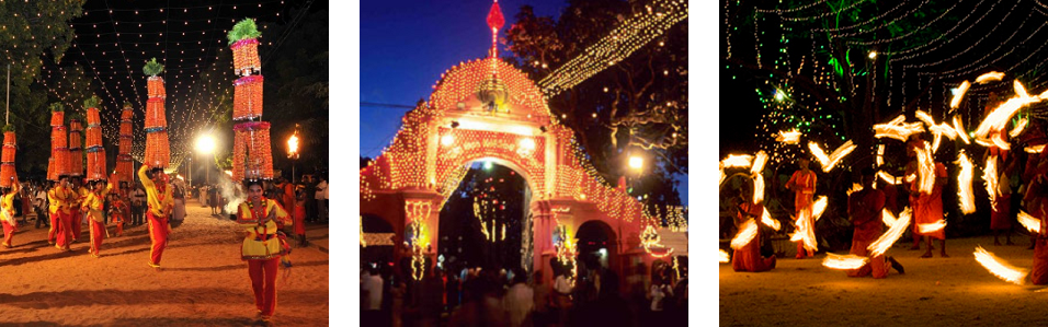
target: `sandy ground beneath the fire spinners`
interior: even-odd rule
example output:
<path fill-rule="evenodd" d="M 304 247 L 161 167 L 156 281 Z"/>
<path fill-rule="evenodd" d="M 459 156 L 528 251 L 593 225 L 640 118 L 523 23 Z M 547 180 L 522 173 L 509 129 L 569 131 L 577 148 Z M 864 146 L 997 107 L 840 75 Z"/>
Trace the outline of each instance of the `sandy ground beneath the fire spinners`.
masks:
<path fill-rule="evenodd" d="M 920 258 L 903 241 L 888 250 L 905 268 L 886 279 L 848 278 L 817 259 L 781 259 L 767 272 L 736 272 L 720 265 L 721 326 L 1048 326 L 1048 290 L 1016 285 L 975 260 L 978 245 L 1013 266 L 1029 269 L 1026 235 L 1012 246 L 993 237 L 947 240 L 949 258 Z M 1004 237 L 1001 237 L 1004 242 Z M 843 254 L 843 253 L 841 253 Z"/>

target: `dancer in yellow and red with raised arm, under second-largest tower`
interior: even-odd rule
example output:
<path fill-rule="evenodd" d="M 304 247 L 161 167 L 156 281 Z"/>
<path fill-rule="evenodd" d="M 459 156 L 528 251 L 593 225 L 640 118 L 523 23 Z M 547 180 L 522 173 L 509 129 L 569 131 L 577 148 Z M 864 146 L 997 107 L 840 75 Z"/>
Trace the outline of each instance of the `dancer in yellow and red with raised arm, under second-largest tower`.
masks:
<path fill-rule="evenodd" d="M 147 171 L 150 172 L 149 175 L 146 175 Z M 163 256 L 163 249 L 168 247 L 168 234 L 171 233 L 168 218 L 174 210 L 174 199 L 171 196 L 171 187 L 168 187 L 163 168 L 153 168 L 144 164 L 138 170 L 138 178 L 146 188 L 149 206 L 146 212 L 149 221 L 149 240 L 152 241 L 149 249 L 149 267 L 160 268 L 160 258 Z"/>

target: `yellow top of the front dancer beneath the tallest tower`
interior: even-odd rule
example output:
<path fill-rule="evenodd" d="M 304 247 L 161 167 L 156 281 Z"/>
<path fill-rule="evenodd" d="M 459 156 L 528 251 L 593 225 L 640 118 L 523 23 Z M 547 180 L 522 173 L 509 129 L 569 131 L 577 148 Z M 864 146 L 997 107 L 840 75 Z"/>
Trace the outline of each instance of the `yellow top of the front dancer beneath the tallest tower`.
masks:
<path fill-rule="evenodd" d="M 281 242 L 276 237 L 277 225 L 266 218 L 275 218 L 285 225 L 293 224 L 291 215 L 284 211 L 276 201 L 265 199 L 264 217 L 262 219 L 253 217 L 251 207 L 248 202 L 242 202 L 237 208 L 237 223 L 248 230 L 248 237 L 243 238 L 243 245 L 240 247 L 241 257 L 244 260 L 261 260 L 276 258 L 281 256 Z"/>

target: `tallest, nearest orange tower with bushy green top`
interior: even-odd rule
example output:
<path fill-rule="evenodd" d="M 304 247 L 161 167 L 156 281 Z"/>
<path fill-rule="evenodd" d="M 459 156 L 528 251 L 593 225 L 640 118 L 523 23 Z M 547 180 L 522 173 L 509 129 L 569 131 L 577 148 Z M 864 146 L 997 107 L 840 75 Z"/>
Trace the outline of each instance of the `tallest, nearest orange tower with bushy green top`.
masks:
<path fill-rule="evenodd" d="M 233 72 L 240 75 L 233 82 L 233 180 L 273 178 L 270 124 L 262 121 L 260 36 L 253 20 L 240 21 L 228 34 Z"/>

